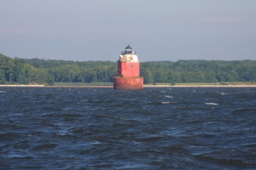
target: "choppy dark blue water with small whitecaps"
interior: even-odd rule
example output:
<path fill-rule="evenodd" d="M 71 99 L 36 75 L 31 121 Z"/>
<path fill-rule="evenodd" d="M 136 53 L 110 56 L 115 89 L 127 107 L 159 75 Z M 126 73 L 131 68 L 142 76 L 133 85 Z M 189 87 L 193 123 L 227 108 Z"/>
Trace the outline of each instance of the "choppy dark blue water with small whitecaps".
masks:
<path fill-rule="evenodd" d="M 256 88 L 0 88 L 1 169 L 255 169 Z"/>

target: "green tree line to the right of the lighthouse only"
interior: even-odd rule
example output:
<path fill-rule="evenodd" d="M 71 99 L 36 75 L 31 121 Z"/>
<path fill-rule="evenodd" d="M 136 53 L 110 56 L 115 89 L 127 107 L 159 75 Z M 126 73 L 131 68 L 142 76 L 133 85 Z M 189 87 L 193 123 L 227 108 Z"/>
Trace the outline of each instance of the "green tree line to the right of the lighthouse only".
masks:
<path fill-rule="evenodd" d="M 256 61 L 179 60 L 142 62 L 147 83 L 210 83 L 256 81 Z"/>

